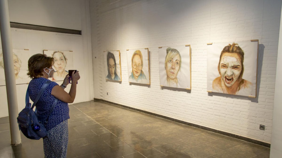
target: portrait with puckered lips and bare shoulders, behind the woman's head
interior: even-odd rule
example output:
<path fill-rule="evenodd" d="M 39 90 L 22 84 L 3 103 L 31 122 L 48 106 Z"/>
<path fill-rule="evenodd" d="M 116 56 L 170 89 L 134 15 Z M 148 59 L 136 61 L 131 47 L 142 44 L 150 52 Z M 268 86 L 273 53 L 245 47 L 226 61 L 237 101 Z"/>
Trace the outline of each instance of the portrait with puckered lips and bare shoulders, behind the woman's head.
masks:
<path fill-rule="evenodd" d="M 43 50 L 43 54 L 54 58 L 53 69 L 55 70 L 52 81 L 64 80 L 69 74 L 68 70 L 73 69 L 73 52 L 72 51 L 51 51 Z"/>

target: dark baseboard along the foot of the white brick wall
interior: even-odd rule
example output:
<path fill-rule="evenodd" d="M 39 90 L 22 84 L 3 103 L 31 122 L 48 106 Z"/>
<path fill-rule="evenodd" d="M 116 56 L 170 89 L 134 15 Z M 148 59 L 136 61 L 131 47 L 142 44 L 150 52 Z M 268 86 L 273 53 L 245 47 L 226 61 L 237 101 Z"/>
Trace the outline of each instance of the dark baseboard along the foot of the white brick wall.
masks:
<path fill-rule="evenodd" d="M 148 112 L 148 111 L 145 111 L 145 110 L 136 109 L 136 108 L 133 108 L 133 107 L 125 106 L 125 105 L 122 105 L 122 104 L 114 103 L 114 102 L 103 100 L 103 99 L 94 98 L 94 100 L 95 101 L 103 101 L 103 102 L 106 102 L 106 103 L 111 103 L 113 105 L 117 105 L 117 106 L 124 107 L 124 108 L 127 108 L 127 109 L 143 112 L 143 113 L 146 113 L 146 114 L 149 114 L 149 115 L 157 116 L 159 118 L 168 119 L 168 120 L 171 120 L 171 121 L 182 123 L 184 125 L 189 125 L 189 126 L 201 128 L 201 129 L 208 130 L 208 131 L 211 131 L 211 132 L 214 132 L 214 133 L 222 134 L 224 136 L 233 137 L 233 138 L 236 138 L 236 139 L 240 139 L 240 140 L 243 140 L 243 141 L 247 141 L 247 142 L 250 142 L 250 143 L 254 143 L 254 144 L 258 144 L 258 145 L 270 148 L 270 143 L 265 143 L 265 142 L 258 141 L 258 140 L 255 140 L 255 139 L 251 139 L 251 138 L 248 138 L 248 137 L 239 136 L 239 135 L 236 135 L 236 134 L 224 132 L 224 131 L 221 131 L 221 130 L 216 130 L 216 129 L 213 129 L 213 128 L 197 125 L 197 124 L 190 123 L 190 122 L 185 122 L 185 121 L 182 121 L 182 120 L 179 120 L 179 119 L 170 118 L 170 117 L 163 116 L 163 115 L 160 115 L 160 114 L 155 114 L 153 112 Z"/>

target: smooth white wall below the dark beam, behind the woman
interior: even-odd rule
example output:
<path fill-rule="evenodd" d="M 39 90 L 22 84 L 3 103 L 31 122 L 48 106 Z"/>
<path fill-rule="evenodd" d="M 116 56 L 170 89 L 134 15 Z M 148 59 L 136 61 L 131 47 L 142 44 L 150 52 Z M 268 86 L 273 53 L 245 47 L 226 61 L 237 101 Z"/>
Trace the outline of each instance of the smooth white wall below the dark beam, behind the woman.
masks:
<path fill-rule="evenodd" d="M 88 60 L 85 60 L 85 53 L 83 53 L 83 37 L 81 35 L 67 35 L 67 34 L 56 34 L 56 33 L 50 33 L 50 32 L 43 32 L 43 31 L 32 31 L 32 30 L 23 30 L 23 29 L 11 29 L 12 34 L 12 42 L 13 42 L 13 48 L 17 48 L 19 50 L 24 50 L 28 46 L 28 52 L 29 55 L 28 58 L 34 54 L 40 53 L 43 54 L 44 49 L 50 49 L 50 50 L 72 50 L 73 55 L 73 69 L 77 69 L 80 72 L 80 80 L 78 81 L 77 86 L 77 92 L 76 92 L 76 98 L 74 100 L 74 103 L 79 103 L 83 101 L 89 101 L 93 98 L 90 97 L 90 94 L 88 94 L 89 91 L 85 90 L 85 87 L 87 89 L 90 89 L 92 87 L 89 86 L 89 68 L 88 67 Z M 15 42 L 14 42 L 14 39 Z M 67 40 L 66 40 L 67 39 Z M 43 43 L 44 41 L 44 43 Z M 54 41 L 56 41 L 56 44 L 54 44 Z M 23 46 L 25 46 L 23 48 Z M 28 59 L 27 58 L 27 59 Z M 26 65 L 27 67 L 27 61 L 22 63 Z M 87 66 L 86 66 L 87 65 Z M 22 71 L 22 70 L 21 70 Z M 62 83 L 62 81 L 56 81 L 59 85 Z M 25 82 L 27 83 L 27 82 Z M 27 84 L 17 84 L 17 100 L 18 100 L 18 110 L 21 111 L 25 106 L 25 93 L 27 90 Z M 65 91 L 69 92 L 70 85 L 67 86 Z M 7 96 L 6 96 L 6 86 L 0 86 L 1 95 L 0 99 L 3 101 L 3 103 L 0 105 L 1 110 L 0 111 L 0 118 L 8 116 L 8 105 L 7 105 Z"/>

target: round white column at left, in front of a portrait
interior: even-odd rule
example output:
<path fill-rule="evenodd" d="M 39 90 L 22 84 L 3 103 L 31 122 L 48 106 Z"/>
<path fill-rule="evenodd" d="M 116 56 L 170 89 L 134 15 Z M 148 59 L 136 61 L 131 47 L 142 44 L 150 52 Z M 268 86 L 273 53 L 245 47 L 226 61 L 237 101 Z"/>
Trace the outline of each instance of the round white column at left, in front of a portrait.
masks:
<path fill-rule="evenodd" d="M 8 0 L 0 0 L 0 32 L 3 51 L 6 91 L 10 121 L 11 144 L 21 144 L 19 125 L 17 124 L 18 106 L 16 93 L 16 79 L 14 75 L 14 59 L 12 50 L 10 17 Z"/>

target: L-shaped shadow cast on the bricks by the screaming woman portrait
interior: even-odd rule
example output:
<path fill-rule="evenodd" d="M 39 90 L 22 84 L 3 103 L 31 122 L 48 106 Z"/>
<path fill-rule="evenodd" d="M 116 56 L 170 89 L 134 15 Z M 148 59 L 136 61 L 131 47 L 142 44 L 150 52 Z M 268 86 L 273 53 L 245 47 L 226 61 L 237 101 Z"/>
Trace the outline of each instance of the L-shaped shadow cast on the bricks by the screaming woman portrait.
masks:
<path fill-rule="evenodd" d="M 250 100 L 251 102 L 258 103 L 258 96 L 259 96 L 259 87 L 261 83 L 261 69 L 263 66 L 263 54 L 264 54 L 264 48 L 265 46 L 263 44 L 259 44 L 258 47 L 258 57 L 257 57 L 257 89 L 256 89 L 256 97 L 250 98 L 248 96 L 238 96 L 238 95 L 232 95 L 232 94 L 224 94 L 224 93 L 208 93 L 209 96 L 223 96 L 226 98 L 236 98 L 236 99 L 243 99 L 243 100 Z"/>

